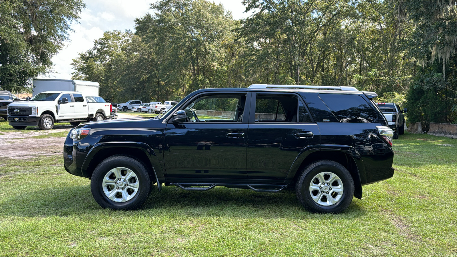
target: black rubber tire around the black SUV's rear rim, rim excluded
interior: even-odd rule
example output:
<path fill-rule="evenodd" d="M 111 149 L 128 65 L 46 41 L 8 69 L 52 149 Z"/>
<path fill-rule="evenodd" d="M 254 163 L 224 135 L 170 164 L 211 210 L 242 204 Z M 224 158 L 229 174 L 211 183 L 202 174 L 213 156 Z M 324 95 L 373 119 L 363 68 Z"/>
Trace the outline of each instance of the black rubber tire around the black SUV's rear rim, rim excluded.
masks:
<path fill-rule="evenodd" d="M 312 193 L 310 192 L 311 182 L 315 176 L 317 176 L 321 172 L 331 172 L 340 178 L 340 181 L 343 186 L 343 193 L 336 203 L 332 205 L 324 206 L 316 201 L 314 201 Z M 325 175 L 324 175 L 325 176 Z M 324 177 L 325 178 L 325 177 Z M 318 180 L 319 181 L 319 180 Z M 315 182 L 318 182 L 315 181 Z M 325 181 L 325 180 L 324 180 Z M 329 180 L 330 181 L 330 180 Z M 314 182 L 313 182 L 314 183 Z M 335 182 L 333 182 L 335 183 Z M 339 182 L 336 182 L 339 184 Z M 320 184 L 320 182 L 319 182 Z M 329 188 L 331 190 L 331 186 L 335 186 L 336 184 L 330 184 Z M 329 189 L 327 188 L 327 190 Z M 323 188 L 324 189 L 324 188 Z M 321 190 L 321 189 L 318 189 Z M 313 191 L 315 192 L 315 191 Z M 331 192 L 331 191 L 328 191 Z M 329 161 L 329 160 L 322 160 L 316 161 L 309 164 L 303 172 L 298 177 L 298 180 L 295 185 L 295 193 L 297 194 L 297 198 L 300 203 L 303 204 L 306 210 L 312 213 L 340 213 L 344 211 L 352 201 L 354 197 L 354 180 L 352 179 L 351 173 L 342 166 L 340 163 L 336 161 Z M 320 192 L 317 192 L 320 193 Z M 325 192 L 324 192 L 325 193 Z M 332 195 L 332 193 L 330 193 Z M 319 197 L 319 195 L 318 195 Z M 321 198 L 321 200 L 324 198 Z M 325 196 L 325 199 L 326 196 Z M 329 201 L 328 199 L 326 200 Z"/>

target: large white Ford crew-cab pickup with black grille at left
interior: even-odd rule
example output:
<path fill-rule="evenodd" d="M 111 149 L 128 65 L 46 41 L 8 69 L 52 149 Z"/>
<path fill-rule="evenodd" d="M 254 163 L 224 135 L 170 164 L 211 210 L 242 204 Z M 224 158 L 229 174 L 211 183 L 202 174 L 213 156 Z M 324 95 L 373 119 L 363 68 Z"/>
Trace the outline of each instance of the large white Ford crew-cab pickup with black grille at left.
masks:
<path fill-rule="evenodd" d="M 77 126 L 81 122 L 116 119 L 116 110 L 102 100 L 99 96 L 86 97 L 81 92 L 46 91 L 29 101 L 9 104 L 7 119 L 14 129 L 38 126 L 44 130 L 52 129 L 56 122 Z"/>

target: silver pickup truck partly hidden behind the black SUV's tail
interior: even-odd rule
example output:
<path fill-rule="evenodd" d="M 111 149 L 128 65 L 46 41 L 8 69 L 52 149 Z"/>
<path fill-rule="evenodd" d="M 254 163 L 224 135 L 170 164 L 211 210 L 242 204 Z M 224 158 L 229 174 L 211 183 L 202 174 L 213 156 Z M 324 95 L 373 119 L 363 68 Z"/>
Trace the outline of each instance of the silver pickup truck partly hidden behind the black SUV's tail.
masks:
<path fill-rule="evenodd" d="M 389 128 L 393 129 L 393 139 L 398 139 L 399 134 L 404 134 L 404 114 L 408 112 L 408 108 L 401 110 L 398 104 L 392 102 L 377 102 L 377 107 L 383 112 L 389 124 Z"/>

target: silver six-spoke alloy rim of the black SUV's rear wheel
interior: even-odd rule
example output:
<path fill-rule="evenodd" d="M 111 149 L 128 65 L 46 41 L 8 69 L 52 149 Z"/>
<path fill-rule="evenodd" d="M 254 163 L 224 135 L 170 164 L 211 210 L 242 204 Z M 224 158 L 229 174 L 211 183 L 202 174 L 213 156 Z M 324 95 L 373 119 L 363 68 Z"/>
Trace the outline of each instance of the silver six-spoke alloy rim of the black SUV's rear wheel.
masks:
<path fill-rule="evenodd" d="M 330 206 L 340 201 L 343 196 L 343 182 L 340 177 L 330 171 L 320 172 L 311 180 L 309 193 L 314 202 Z"/>

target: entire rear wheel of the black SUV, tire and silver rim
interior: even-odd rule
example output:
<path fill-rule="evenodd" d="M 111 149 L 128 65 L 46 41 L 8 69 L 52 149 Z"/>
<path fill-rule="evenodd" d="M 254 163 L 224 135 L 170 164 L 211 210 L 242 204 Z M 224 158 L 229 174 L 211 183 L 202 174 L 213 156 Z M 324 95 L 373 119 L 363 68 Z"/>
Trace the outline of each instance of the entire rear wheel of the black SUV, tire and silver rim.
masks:
<path fill-rule="evenodd" d="M 336 161 L 316 161 L 308 165 L 295 185 L 298 200 L 313 213 L 340 213 L 354 197 L 354 180 Z"/>

